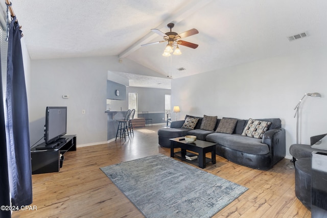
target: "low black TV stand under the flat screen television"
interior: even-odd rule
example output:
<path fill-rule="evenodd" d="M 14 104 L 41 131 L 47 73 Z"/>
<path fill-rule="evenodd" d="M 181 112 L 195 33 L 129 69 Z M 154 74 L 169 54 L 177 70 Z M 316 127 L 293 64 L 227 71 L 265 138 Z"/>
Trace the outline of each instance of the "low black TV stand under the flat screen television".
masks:
<path fill-rule="evenodd" d="M 60 156 L 67 151 L 76 151 L 76 135 L 64 135 L 60 144 L 53 149 L 41 149 L 45 143 L 31 149 L 32 174 L 53 173 L 60 171 Z"/>

